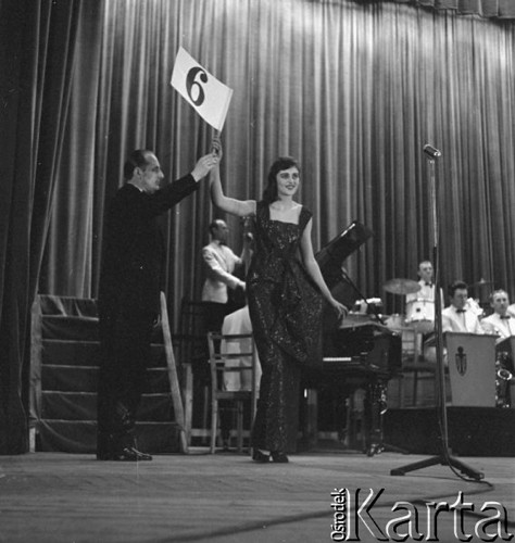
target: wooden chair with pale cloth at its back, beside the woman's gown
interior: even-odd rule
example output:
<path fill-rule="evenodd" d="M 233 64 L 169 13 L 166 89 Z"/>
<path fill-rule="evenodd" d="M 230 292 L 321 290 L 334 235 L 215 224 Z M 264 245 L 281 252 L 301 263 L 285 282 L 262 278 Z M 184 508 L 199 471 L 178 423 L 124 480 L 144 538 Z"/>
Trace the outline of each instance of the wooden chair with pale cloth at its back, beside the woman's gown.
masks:
<path fill-rule="evenodd" d="M 251 333 L 208 333 L 211 366 L 211 454 L 216 447 L 218 402 L 236 405 L 237 450 L 243 450 L 243 404 L 250 403 L 251 424 L 256 406 L 256 353 Z M 239 377 L 239 379 L 238 379 Z M 247 384 L 247 386 L 243 386 Z M 250 449 L 250 447 L 249 447 Z"/>

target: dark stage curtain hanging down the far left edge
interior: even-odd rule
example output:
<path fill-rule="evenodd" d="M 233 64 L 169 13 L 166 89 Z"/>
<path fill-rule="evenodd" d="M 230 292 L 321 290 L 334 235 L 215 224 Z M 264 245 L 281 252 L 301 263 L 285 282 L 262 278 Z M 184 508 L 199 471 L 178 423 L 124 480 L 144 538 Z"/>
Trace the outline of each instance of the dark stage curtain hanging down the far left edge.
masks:
<path fill-rule="evenodd" d="M 0 4 L 0 453 L 27 451 L 30 306 L 73 80 L 77 1 Z"/>

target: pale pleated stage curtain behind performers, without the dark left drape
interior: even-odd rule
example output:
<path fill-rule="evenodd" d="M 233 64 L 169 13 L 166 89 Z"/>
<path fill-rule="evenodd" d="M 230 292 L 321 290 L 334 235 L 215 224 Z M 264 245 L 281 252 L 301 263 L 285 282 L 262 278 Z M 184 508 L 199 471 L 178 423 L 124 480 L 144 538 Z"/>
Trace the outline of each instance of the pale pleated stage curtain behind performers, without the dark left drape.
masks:
<path fill-rule="evenodd" d="M 77 30 L 41 293 L 96 295 L 103 209 L 130 149 L 155 150 L 172 178 L 209 150 L 212 130 L 169 86 L 179 45 L 235 90 L 223 132 L 227 192 L 260 198 L 272 161 L 297 156 L 315 250 L 352 219 L 370 227 L 374 239 L 348 266 L 387 312 L 403 312 L 403 301 L 381 285 L 416 277 L 418 260 L 431 257 L 425 143 L 442 150 L 442 282 L 513 288 L 512 24 L 399 2 L 98 5 Z M 201 187 L 165 217 L 173 323 L 180 299 L 199 296 L 215 215 Z M 226 218 L 239 251 L 241 225 Z"/>

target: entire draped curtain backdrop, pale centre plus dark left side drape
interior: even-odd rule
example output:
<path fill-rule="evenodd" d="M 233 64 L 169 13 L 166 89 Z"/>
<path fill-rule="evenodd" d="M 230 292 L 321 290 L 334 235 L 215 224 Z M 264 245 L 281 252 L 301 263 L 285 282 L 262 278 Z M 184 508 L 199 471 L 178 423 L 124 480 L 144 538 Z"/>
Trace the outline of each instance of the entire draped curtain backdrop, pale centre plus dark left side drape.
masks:
<path fill-rule="evenodd" d="M 315 250 L 364 223 L 374 238 L 346 267 L 400 311 L 384 282 L 416 278 L 435 244 L 430 143 L 442 282 L 515 295 L 514 21 L 508 0 L 2 0 L 0 453 L 27 447 L 30 305 L 97 295 L 126 154 L 153 149 L 177 178 L 210 149 L 212 129 L 169 86 L 179 46 L 234 89 L 229 195 L 259 199 L 272 161 L 298 157 Z M 199 296 L 214 216 L 203 182 L 163 217 L 175 324 Z M 239 251 L 241 225 L 225 218 Z"/>

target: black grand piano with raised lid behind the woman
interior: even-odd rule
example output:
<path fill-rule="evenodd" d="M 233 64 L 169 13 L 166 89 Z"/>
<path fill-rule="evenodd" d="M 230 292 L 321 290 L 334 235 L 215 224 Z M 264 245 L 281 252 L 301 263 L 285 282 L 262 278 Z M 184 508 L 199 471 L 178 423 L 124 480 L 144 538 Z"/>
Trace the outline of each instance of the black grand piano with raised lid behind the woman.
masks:
<path fill-rule="evenodd" d="M 372 237 L 372 230 L 353 222 L 315 255 L 331 294 L 350 308 L 366 299 L 348 276 L 343 262 Z M 400 369 L 401 338 L 382 325 L 373 306 L 366 314 L 351 312 L 341 323 L 328 308 L 323 321 L 322 370 L 307 377 L 306 388 L 317 390 L 318 405 L 324 406 L 327 397 L 344 404 L 347 426 L 353 422 L 349 399 L 359 390 L 365 391 L 360 431 L 364 452 L 372 456 L 384 450 L 386 386 Z"/>

